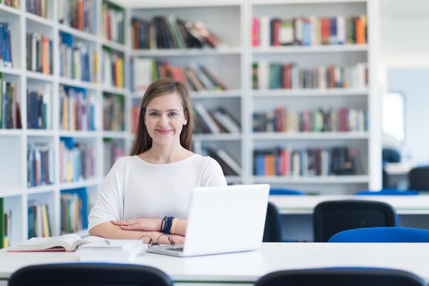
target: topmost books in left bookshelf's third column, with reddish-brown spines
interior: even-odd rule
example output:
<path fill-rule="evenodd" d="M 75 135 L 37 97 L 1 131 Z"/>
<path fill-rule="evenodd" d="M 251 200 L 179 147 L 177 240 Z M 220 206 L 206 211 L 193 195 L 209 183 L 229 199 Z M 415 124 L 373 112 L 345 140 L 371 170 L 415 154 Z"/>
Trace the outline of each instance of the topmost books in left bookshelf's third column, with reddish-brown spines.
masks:
<path fill-rule="evenodd" d="M 97 33 L 97 0 L 59 0 L 58 15 L 64 25 Z"/>

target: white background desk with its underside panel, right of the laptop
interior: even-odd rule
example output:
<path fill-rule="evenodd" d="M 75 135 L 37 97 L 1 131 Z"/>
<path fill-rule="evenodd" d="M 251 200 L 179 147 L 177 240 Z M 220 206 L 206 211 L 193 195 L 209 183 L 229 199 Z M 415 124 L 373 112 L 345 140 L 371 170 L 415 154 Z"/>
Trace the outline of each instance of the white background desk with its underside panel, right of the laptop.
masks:
<path fill-rule="evenodd" d="M 400 215 L 400 225 L 429 229 L 429 195 L 418 196 L 270 196 L 283 218 L 283 239 L 312 241 L 312 213 L 325 200 L 379 200 L 392 205 Z"/>

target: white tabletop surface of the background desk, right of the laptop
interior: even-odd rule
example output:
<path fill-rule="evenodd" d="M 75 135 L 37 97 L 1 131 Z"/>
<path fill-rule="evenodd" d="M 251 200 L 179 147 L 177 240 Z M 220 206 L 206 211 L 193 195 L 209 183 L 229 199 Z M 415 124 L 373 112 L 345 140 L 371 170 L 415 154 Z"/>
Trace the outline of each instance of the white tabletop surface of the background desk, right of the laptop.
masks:
<path fill-rule="evenodd" d="M 429 214 L 429 196 L 269 196 L 282 214 L 311 214 L 318 203 L 325 200 L 379 200 L 392 205 L 399 214 Z"/>

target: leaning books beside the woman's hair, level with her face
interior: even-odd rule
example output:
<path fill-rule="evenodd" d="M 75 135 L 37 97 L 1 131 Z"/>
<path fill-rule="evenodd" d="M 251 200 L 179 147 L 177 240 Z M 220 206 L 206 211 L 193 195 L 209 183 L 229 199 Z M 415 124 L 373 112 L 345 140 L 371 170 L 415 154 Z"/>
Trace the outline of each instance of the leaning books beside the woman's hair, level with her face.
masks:
<path fill-rule="evenodd" d="M 195 133 L 240 133 L 239 123 L 222 107 L 208 112 L 202 103 L 195 103 Z"/>

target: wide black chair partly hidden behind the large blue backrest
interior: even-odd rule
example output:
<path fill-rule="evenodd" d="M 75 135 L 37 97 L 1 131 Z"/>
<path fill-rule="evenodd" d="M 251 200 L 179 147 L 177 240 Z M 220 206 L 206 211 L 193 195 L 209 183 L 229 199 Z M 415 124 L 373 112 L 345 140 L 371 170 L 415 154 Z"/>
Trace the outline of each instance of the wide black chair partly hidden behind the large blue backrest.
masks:
<path fill-rule="evenodd" d="M 315 242 L 328 242 L 347 229 L 397 226 L 397 222 L 391 205 L 371 200 L 328 200 L 319 203 L 313 213 Z"/>

